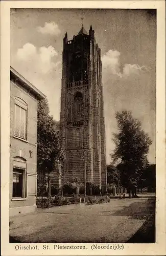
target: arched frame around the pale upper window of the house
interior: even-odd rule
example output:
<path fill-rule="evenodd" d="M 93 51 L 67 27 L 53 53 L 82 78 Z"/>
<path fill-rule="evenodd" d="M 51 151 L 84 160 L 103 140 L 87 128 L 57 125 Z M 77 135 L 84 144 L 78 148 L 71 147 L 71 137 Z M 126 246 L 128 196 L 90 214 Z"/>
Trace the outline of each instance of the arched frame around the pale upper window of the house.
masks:
<path fill-rule="evenodd" d="M 25 117 L 25 137 L 21 137 L 20 133 L 21 133 L 21 129 L 19 130 L 19 136 L 16 134 L 16 106 L 18 106 L 20 109 L 23 109 L 26 111 L 26 117 Z M 28 127 L 28 105 L 27 103 L 22 100 L 21 98 L 15 97 L 15 102 L 14 102 L 14 136 L 16 138 L 19 138 L 21 140 L 27 140 L 27 127 Z M 20 127 L 19 127 L 20 128 Z"/>

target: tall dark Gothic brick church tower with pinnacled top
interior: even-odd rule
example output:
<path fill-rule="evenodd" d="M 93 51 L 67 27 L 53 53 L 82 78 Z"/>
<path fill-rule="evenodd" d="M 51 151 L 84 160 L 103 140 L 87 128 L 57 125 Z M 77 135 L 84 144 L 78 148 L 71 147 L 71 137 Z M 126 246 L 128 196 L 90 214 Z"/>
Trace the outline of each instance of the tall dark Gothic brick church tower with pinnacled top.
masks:
<path fill-rule="evenodd" d="M 94 30 L 82 26 L 63 39 L 60 138 L 65 152 L 62 183 L 77 177 L 107 184 L 101 49 Z M 85 175 L 86 169 L 86 175 Z"/>

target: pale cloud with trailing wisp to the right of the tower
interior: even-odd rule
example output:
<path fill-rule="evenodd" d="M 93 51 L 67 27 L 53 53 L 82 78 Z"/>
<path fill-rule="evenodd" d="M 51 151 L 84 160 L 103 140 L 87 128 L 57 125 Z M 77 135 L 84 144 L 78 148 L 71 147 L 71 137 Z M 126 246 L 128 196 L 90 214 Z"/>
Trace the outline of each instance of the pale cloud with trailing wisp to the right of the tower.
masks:
<path fill-rule="evenodd" d="M 141 71 L 148 71 L 145 66 L 137 64 L 125 64 L 121 71 L 122 64 L 120 62 L 121 53 L 116 50 L 109 50 L 102 56 L 103 72 L 116 75 L 118 77 L 127 77 L 131 74 L 139 74 Z"/>

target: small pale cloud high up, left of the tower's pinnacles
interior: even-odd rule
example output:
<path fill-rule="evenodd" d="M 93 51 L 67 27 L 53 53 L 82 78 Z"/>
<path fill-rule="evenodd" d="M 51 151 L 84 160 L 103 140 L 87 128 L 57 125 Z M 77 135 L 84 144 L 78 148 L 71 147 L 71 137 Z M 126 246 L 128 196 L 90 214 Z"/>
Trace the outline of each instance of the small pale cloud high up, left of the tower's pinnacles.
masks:
<path fill-rule="evenodd" d="M 36 29 L 41 34 L 59 35 L 61 32 L 55 22 L 45 22 L 44 27 L 37 27 Z"/>

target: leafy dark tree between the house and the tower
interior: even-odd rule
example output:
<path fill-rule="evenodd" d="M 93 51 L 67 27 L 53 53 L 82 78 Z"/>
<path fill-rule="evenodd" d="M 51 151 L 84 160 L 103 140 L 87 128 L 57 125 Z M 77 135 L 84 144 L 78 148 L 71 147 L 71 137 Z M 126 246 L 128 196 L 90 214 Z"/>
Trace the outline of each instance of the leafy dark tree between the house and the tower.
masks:
<path fill-rule="evenodd" d="M 51 172 L 55 168 L 55 162 L 64 157 L 56 127 L 56 121 L 49 115 L 48 100 L 40 100 L 37 114 L 37 170 L 42 176 L 48 177 L 49 195 L 51 195 Z"/>

